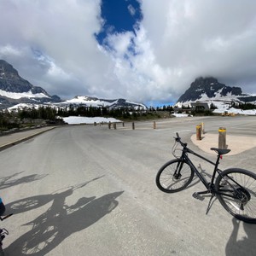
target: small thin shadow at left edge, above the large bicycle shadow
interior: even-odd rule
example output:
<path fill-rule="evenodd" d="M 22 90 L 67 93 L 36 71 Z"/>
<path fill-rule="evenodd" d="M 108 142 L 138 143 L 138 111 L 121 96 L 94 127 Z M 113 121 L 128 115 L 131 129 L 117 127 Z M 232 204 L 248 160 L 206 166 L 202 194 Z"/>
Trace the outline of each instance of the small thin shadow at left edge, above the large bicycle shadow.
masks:
<path fill-rule="evenodd" d="M 0 178 L 0 189 L 7 189 L 9 187 L 13 187 L 13 186 L 16 186 L 16 185 L 19 185 L 22 183 L 31 183 L 33 181 L 42 179 L 48 175 L 48 174 L 42 174 L 42 175 L 32 174 L 32 175 L 27 175 L 24 177 L 19 177 L 19 178 L 13 179 L 14 177 L 20 175 L 21 173 L 23 173 L 23 172 L 17 172 L 8 177 L 1 177 Z"/>

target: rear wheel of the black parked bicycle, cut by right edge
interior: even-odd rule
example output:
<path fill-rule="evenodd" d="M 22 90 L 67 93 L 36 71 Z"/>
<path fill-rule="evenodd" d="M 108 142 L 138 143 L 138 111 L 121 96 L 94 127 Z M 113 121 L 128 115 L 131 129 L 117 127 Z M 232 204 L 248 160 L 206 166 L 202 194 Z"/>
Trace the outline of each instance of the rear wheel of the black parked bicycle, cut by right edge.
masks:
<path fill-rule="evenodd" d="M 226 211 L 246 223 L 256 224 L 256 175 L 253 172 L 227 169 L 218 175 L 215 189 L 226 194 L 217 193 L 218 201 Z"/>

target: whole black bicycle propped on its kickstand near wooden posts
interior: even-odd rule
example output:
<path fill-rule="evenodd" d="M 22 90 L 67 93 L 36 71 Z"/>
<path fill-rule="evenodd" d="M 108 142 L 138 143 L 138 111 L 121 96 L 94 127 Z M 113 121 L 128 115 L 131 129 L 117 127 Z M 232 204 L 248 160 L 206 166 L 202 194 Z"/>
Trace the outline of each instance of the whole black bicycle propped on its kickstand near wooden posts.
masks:
<path fill-rule="evenodd" d="M 256 224 L 256 175 L 239 168 L 229 168 L 224 171 L 218 169 L 219 160 L 222 159 L 222 155 L 228 154 L 230 149 L 211 148 L 217 153 L 217 160 L 214 163 L 188 148 L 188 143 L 183 143 L 178 133 L 174 139 L 172 154 L 176 159 L 170 160 L 160 167 L 155 177 L 157 187 L 163 192 L 175 193 L 187 188 L 196 174 L 207 190 L 195 192 L 193 197 L 202 201 L 204 200 L 203 195 L 211 195 L 207 213 L 211 208 L 212 198 L 216 196 L 224 209 L 235 218 L 249 224 Z M 176 156 L 178 144 L 182 146 L 180 157 Z M 214 166 L 210 182 L 195 167 L 189 159 L 189 154 Z"/>

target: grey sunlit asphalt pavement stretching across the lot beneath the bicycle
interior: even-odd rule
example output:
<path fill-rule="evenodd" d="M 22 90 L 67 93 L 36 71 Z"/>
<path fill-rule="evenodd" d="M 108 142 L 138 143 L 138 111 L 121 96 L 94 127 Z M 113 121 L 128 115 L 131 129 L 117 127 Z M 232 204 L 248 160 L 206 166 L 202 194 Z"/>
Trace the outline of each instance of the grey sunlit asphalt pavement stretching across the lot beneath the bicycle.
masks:
<path fill-rule="evenodd" d="M 165 194 L 154 178 L 171 160 L 178 131 L 191 142 L 195 125 L 225 126 L 232 135 L 256 137 L 255 117 L 165 119 L 117 125 L 55 128 L 0 152 L 1 197 L 9 230 L 6 255 L 255 255 L 256 225 L 244 224 L 208 198 L 195 178 L 188 189 Z M 242 143 L 242 142 L 241 142 Z M 239 145 L 237 145 L 239 147 Z M 225 156 L 220 168 L 256 173 L 256 148 Z M 192 158 L 194 159 L 194 158 Z M 212 166 L 195 160 L 208 177 Z"/>

